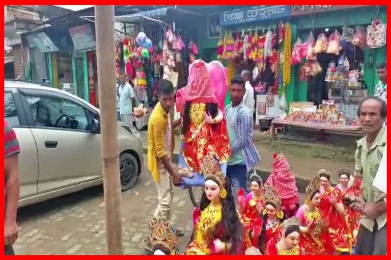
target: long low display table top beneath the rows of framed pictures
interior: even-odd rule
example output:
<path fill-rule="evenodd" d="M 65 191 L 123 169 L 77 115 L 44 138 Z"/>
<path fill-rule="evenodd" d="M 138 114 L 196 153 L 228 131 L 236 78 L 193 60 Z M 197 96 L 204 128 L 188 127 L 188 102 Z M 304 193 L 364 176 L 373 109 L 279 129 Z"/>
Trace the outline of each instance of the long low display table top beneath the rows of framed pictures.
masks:
<path fill-rule="evenodd" d="M 275 127 L 277 125 L 291 125 L 303 128 L 319 129 L 321 134 L 324 135 L 325 131 L 332 131 L 338 133 L 344 133 L 346 135 L 356 136 L 362 135 L 361 126 L 349 126 L 349 125 L 333 125 L 333 124 L 324 124 L 324 123 L 310 123 L 310 122 L 297 122 L 285 119 L 273 119 L 271 122 L 271 138 L 275 139 Z"/>

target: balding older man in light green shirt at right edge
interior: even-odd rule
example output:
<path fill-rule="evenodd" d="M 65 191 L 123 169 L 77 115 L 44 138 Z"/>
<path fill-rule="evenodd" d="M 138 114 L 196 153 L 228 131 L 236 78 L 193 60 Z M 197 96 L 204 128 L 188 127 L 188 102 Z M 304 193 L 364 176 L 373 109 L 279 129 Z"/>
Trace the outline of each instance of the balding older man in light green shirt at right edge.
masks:
<path fill-rule="evenodd" d="M 383 124 L 387 105 L 381 99 L 370 96 L 362 101 L 357 115 L 366 136 L 357 141 L 355 154 L 355 177 L 362 178 L 361 197 L 356 198 L 356 203 L 351 207 L 363 213 L 357 234 L 356 254 L 381 255 L 387 252 L 386 194 L 372 183 L 387 142 L 387 130 Z"/>

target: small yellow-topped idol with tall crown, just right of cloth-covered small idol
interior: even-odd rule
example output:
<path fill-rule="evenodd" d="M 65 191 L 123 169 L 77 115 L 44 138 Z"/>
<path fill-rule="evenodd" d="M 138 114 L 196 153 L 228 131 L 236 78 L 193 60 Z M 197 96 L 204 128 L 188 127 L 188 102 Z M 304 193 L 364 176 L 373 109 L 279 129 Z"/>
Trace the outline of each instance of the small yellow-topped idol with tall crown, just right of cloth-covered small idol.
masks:
<path fill-rule="evenodd" d="M 316 175 L 305 189 L 305 202 L 296 216 L 300 219 L 299 245 L 306 255 L 324 255 L 335 251 L 328 233 L 329 219 L 321 215 L 320 179 Z"/>

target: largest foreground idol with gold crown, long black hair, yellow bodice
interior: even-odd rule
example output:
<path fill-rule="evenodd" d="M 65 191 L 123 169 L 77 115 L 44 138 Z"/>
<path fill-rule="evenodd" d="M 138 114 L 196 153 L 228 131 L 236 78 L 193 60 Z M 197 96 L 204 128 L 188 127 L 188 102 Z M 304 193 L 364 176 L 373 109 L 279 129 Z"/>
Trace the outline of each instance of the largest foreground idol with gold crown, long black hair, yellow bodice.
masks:
<path fill-rule="evenodd" d="M 231 182 L 208 153 L 203 160 L 204 191 L 193 212 L 194 230 L 185 255 L 244 254 L 251 246 L 239 214 Z"/>

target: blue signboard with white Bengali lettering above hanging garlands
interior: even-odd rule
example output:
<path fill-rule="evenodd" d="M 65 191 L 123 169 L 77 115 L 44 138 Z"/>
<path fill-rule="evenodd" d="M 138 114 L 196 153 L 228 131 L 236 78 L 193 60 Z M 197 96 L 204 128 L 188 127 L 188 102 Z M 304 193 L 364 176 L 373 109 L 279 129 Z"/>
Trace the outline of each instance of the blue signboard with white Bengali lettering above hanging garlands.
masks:
<path fill-rule="evenodd" d="M 260 22 L 289 17 L 290 6 L 251 6 L 227 10 L 220 14 L 220 25 L 235 25 L 241 23 Z"/>

